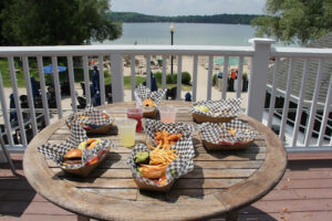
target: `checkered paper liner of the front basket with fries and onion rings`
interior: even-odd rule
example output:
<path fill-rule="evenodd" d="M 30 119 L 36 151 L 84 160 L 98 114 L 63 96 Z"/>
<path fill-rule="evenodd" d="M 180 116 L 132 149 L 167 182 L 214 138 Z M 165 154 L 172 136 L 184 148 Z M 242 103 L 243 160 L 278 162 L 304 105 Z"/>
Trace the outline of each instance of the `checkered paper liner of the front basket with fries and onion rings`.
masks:
<path fill-rule="evenodd" d="M 177 143 L 177 145 L 173 146 L 172 149 L 176 150 L 176 155 L 178 155 L 179 157 L 177 157 L 175 160 L 173 160 L 166 168 L 166 178 L 167 178 L 167 185 L 169 182 L 172 182 L 173 180 L 179 178 L 180 176 L 184 176 L 188 172 L 190 172 L 194 169 L 194 161 L 193 161 L 193 157 L 188 157 L 190 156 L 191 152 L 191 147 L 186 147 L 187 145 L 184 145 L 181 143 L 185 143 L 185 140 L 179 140 Z M 129 169 L 132 170 L 133 177 L 137 180 L 139 180 L 141 182 L 145 182 L 147 185 L 152 185 L 152 186 L 157 186 L 158 185 L 145 177 L 142 177 L 137 170 L 136 170 L 136 165 L 135 165 L 135 155 L 136 152 L 139 151 L 148 151 L 151 152 L 151 150 L 147 149 L 147 147 L 143 144 L 136 145 L 134 147 L 134 149 L 132 150 L 132 154 L 129 155 L 128 159 L 127 159 L 127 165 L 129 166 Z"/>

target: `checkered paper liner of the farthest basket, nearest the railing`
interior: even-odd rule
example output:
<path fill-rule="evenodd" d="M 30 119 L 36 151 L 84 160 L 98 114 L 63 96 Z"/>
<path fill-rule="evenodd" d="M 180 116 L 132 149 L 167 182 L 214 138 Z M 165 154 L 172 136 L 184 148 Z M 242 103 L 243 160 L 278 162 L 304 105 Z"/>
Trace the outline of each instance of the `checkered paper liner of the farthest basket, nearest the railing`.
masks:
<path fill-rule="evenodd" d="M 158 90 L 156 92 L 152 92 L 149 88 L 147 88 L 143 84 L 139 84 L 135 88 L 134 94 L 135 94 L 137 107 L 142 107 L 142 103 L 144 99 L 152 99 L 155 103 L 155 105 L 158 106 L 166 94 L 166 90 Z"/>

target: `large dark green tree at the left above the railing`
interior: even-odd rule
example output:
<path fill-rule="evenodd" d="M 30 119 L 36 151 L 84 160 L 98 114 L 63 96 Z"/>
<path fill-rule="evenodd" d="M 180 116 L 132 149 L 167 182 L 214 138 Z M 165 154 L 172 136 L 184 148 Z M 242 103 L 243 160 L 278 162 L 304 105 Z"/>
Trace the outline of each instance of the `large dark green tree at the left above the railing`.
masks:
<path fill-rule="evenodd" d="M 2 38 L 9 45 L 73 45 L 114 40 L 107 0 L 1 0 Z"/>

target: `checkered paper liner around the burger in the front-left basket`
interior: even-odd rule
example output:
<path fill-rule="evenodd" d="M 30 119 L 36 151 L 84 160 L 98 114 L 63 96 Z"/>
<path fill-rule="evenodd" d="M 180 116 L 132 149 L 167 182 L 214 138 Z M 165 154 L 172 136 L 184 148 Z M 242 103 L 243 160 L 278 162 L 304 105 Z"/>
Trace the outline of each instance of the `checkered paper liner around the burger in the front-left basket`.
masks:
<path fill-rule="evenodd" d="M 100 151 L 107 150 L 110 147 L 113 147 L 112 141 L 102 139 L 101 143 L 97 144 L 94 148 L 87 150 L 82 149 L 82 164 L 62 166 L 65 154 L 71 149 L 77 148 L 82 141 L 85 141 L 87 139 L 89 138 L 86 136 L 86 131 L 80 126 L 79 123 L 73 122 L 71 125 L 71 135 L 64 143 L 58 145 L 44 144 L 37 149 L 45 158 L 54 160 L 55 164 L 61 168 L 76 169 L 84 167 L 86 160 L 96 157 Z"/>

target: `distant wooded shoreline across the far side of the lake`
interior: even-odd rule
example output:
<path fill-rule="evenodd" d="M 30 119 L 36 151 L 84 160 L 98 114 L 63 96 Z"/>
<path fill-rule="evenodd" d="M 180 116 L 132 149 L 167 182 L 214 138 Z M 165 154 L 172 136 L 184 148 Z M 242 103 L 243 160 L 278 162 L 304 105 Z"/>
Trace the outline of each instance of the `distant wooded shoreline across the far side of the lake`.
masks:
<path fill-rule="evenodd" d="M 228 23 L 250 24 L 257 14 L 214 14 L 214 15 L 178 15 L 159 17 L 136 12 L 112 12 L 108 13 L 112 21 L 118 22 L 188 22 L 188 23 Z"/>

